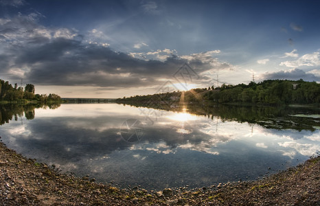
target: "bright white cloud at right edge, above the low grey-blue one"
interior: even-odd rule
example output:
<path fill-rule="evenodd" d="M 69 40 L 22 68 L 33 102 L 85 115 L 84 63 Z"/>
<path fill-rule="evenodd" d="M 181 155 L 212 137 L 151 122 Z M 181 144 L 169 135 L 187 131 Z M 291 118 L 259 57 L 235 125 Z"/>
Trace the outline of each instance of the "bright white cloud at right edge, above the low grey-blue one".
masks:
<path fill-rule="evenodd" d="M 292 53 L 291 55 L 294 55 L 293 52 L 291 53 Z M 320 53 L 314 52 L 312 54 L 305 54 L 304 56 L 301 56 L 297 60 L 281 62 L 280 66 L 286 66 L 286 67 L 320 66 Z"/>

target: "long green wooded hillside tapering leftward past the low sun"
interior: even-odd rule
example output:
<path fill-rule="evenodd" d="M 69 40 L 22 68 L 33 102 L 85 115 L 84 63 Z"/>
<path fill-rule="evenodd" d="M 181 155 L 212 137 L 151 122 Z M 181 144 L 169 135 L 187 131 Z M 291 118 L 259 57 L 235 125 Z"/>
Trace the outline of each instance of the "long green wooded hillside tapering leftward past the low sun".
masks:
<path fill-rule="evenodd" d="M 264 80 L 249 84 L 222 84 L 220 87 L 174 91 L 155 95 L 136 95 L 117 102 L 214 102 L 222 104 L 319 104 L 320 84 L 304 80 Z"/>

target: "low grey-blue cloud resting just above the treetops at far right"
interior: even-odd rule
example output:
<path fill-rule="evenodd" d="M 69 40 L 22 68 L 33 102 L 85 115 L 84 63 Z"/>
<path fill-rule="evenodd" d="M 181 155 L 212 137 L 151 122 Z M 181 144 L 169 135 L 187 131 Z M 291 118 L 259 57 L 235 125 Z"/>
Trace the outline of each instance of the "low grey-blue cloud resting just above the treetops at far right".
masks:
<path fill-rule="evenodd" d="M 314 73 L 306 73 L 302 69 L 289 69 L 276 72 L 266 72 L 260 76 L 262 80 L 299 80 L 320 82 L 319 76 L 315 76 Z"/>

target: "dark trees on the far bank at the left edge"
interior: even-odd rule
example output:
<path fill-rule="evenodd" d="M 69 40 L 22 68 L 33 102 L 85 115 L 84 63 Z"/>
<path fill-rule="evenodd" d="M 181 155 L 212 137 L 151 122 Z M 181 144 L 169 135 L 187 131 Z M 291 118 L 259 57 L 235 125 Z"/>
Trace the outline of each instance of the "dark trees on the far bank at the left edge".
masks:
<path fill-rule="evenodd" d="M 24 101 L 36 100 L 38 102 L 59 102 L 59 95 L 54 93 L 36 94 L 34 84 L 26 84 L 25 87 L 18 87 L 18 84 L 10 84 L 8 81 L 0 79 L 0 101 Z"/>

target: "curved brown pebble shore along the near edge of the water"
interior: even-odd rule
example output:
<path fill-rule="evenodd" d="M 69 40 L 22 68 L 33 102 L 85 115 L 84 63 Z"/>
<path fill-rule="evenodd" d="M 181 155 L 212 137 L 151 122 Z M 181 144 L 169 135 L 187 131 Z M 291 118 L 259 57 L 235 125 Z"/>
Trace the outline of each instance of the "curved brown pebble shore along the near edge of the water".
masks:
<path fill-rule="evenodd" d="M 260 181 L 188 189 L 119 189 L 60 174 L 0 143 L 0 205 L 320 205 L 320 157 Z"/>

